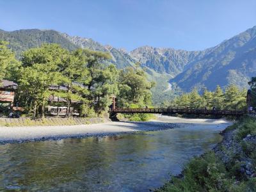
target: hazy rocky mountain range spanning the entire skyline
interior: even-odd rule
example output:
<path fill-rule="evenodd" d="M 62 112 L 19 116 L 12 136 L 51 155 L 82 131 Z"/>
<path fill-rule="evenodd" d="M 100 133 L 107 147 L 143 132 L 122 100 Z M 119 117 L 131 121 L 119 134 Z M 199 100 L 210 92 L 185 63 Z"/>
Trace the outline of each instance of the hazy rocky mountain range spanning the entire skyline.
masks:
<path fill-rule="evenodd" d="M 0 40 L 10 42 L 10 48 L 18 58 L 22 51 L 47 42 L 60 44 L 70 51 L 83 47 L 109 52 L 112 59 L 108 63 L 113 63 L 117 68 L 140 62 L 148 78 L 157 82 L 154 91 L 162 95 L 170 95 L 173 88 L 174 91 L 184 92 L 193 88 L 199 91 L 203 88 L 214 90 L 217 84 L 221 87 L 237 84 L 240 88 L 246 88 L 250 77 L 256 76 L 256 26 L 203 51 L 143 46 L 127 52 L 111 45 L 102 45 L 92 38 L 41 29 L 0 30 Z M 153 95 L 162 100 L 159 93 Z"/>

